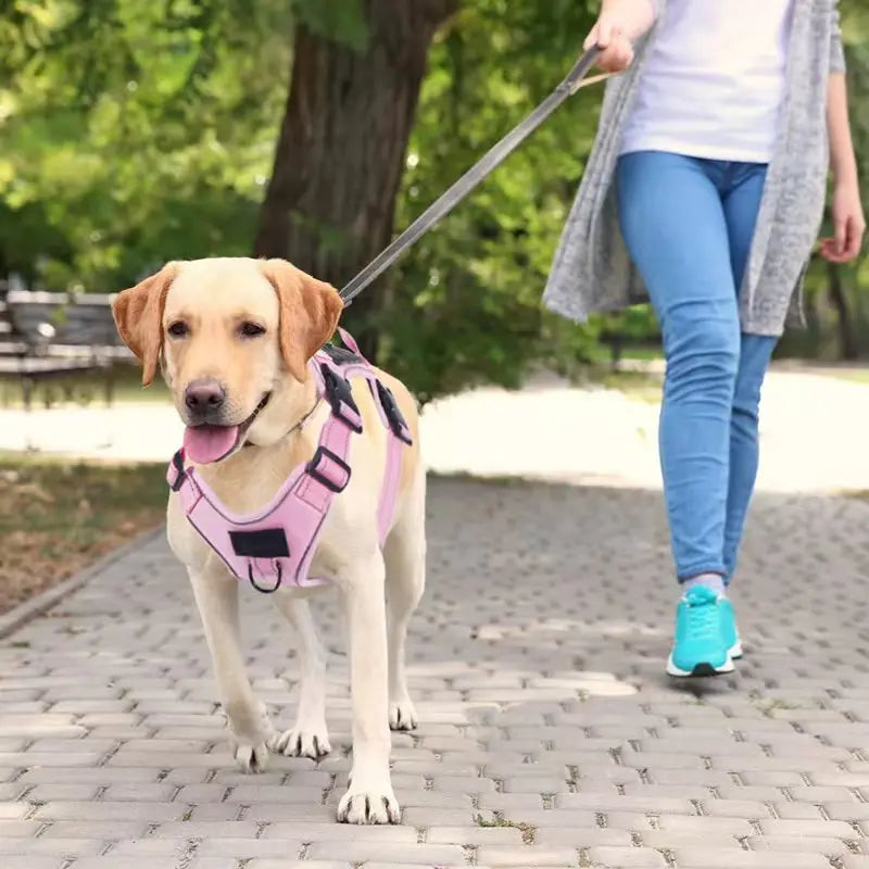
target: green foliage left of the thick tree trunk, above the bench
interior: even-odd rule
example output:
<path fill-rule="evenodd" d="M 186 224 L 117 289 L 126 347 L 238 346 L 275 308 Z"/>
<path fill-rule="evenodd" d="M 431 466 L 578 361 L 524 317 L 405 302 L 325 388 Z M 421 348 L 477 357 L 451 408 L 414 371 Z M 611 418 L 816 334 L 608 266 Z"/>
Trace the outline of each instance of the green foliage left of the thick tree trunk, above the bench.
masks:
<path fill-rule="evenodd" d="M 280 122 L 280 0 L 20 0 L 0 18 L 0 273 L 114 290 L 250 249 Z"/>

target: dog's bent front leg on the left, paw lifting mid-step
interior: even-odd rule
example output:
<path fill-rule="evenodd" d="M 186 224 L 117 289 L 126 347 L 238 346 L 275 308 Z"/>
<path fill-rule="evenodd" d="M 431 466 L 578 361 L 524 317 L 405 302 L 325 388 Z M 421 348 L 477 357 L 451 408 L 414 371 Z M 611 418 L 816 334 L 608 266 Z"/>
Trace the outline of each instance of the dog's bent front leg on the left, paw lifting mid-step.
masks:
<path fill-rule="evenodd" d="M 268 761 L 266 746 L 275 731 L 265 706 L 253 693 L 244 666 L 238 580 L 223 566 L 189 572 L 227 717 L 229 744 L 245 772 L 262 772 Z"/>

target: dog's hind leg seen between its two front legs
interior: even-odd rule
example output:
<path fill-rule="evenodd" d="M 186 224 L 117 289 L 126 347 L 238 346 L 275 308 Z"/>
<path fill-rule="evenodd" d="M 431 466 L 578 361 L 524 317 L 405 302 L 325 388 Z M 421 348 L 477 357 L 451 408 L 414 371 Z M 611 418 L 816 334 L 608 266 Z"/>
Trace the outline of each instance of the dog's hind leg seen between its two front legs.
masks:
<path fill-rule="evenodd" d="M 275 605 L 299 637 L 302 673 L 295 726 L 275 736 L 269 747 L 290 757 L 316 760 L 331 751 L 326 728 L 326 651 L 307 601 L 278 593 Z"/>

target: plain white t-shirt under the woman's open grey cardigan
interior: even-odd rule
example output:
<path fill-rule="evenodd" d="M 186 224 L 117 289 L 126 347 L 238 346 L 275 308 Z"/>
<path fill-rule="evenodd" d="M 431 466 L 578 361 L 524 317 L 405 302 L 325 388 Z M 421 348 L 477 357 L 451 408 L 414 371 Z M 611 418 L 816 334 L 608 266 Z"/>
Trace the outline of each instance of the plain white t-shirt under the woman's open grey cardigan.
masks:
<path fill-rule="evenodd" d="M 620 153 L 768 163 L 794 0 L 669 0 Z"/>

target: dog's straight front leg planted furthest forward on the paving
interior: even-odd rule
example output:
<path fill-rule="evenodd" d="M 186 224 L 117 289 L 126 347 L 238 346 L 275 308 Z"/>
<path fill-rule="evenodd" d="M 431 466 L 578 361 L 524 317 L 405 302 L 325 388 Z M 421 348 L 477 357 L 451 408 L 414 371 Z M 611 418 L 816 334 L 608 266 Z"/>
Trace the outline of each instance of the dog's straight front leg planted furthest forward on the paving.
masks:
<path fill-rule="evenodd" d="M 354 561 L 341 583 L 350 631 L 350 684 L 353 695 L 353 769 L 338 806 L 348 823 L 398 823 L 401 810 L 389 773 L 389 679 L 385 567 L 378 550 Z"/>

